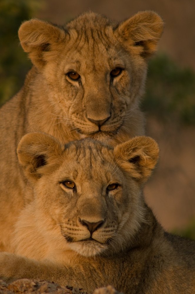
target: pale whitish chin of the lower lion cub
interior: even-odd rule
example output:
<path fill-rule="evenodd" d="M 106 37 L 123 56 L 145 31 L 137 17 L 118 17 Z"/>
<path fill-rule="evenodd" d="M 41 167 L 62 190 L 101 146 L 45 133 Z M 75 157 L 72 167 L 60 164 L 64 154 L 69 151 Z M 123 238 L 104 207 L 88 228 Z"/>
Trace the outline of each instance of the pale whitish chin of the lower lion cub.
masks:
<path fill-rule="evenodd" d="M 100 244 L 96 241 L 80 241 L 69 244 L 71 250 L 76 251 L 82 256 L 91 257 L 99 255 L 108 249 L 106 244 Z"/>

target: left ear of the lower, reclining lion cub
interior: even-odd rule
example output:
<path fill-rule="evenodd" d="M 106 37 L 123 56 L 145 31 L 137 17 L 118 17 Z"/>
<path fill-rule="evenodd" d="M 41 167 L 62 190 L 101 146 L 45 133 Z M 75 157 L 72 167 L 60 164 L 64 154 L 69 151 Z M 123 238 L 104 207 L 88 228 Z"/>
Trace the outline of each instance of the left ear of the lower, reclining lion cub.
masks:
<path fill-rule="evenodd" d="M 41 167 L 50 164 L 52 170 L 58 165 L 63 151 L 64 146 L 56 138 L 41 132 L 24 135 L 17 148 L 19 162 L 29 180 L 41 178 Z"/>

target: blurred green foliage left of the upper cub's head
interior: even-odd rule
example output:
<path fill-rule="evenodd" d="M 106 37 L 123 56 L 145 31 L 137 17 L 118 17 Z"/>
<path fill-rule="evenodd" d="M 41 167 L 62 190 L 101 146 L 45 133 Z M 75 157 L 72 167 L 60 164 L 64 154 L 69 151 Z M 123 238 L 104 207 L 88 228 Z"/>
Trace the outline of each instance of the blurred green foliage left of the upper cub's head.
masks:
<path fill-rule="evenodd" d="M 19 45 L 19 26 L 43 5 L 43 0 L 0 1 L 0 105 L 19 91 L 31 67 Z"/>

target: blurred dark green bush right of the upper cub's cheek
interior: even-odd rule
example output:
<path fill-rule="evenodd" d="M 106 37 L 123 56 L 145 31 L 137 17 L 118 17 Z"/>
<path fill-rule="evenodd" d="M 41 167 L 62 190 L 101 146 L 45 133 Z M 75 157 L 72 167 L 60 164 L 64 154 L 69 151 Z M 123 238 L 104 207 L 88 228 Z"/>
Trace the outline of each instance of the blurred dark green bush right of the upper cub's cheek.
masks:
<path fill-rule="evenodd" d="M 195 124 L 195 73 L 167 55 L 151 59 L 142 108 L 163 120 Z"/>

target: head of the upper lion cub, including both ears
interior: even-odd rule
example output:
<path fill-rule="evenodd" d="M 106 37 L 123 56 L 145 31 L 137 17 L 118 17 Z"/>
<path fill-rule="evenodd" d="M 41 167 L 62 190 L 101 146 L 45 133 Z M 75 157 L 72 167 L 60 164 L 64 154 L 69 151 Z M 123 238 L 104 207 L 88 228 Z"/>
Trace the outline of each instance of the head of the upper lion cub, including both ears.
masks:
<path fill-rule="evenodd" d="M 121 24 L 86 13 L 64 27 L 32 19 L 21 25 L 19 38 L 60 122 L 82 137 L 101 138 L 119 132 L 139 111 L 146 61 L 162 29 L 154 12 Z"/>

